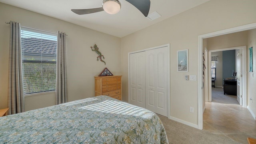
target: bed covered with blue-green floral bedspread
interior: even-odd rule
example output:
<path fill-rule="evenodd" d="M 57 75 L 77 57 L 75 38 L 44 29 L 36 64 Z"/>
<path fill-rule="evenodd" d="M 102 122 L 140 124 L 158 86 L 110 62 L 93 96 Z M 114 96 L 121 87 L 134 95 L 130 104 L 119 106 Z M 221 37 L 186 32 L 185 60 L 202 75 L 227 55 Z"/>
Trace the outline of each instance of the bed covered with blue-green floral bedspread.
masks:
<path fill-rule="evenodd" d="M 153 112 L 96 96 L 0 117 L 0 142 L 168 144 L 168 139 Z"/>

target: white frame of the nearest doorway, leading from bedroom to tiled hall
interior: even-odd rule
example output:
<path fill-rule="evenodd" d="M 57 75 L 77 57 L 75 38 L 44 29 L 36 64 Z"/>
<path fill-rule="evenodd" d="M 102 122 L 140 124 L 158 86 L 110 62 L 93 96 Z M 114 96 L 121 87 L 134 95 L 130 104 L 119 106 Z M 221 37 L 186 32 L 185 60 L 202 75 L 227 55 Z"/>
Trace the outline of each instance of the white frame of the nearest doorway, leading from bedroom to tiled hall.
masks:
<path fill-rule="evenodd" d="M 198 129 L 200 129 L 200 130 L 203 129 L 203 90 L 202 90 L 202 85 L 203 85 L 203 80 L 202 80 L 203 79 L 203 67 L 202 67 L 202 64 L 203 64 L 203 56 L 202 56 L 203 39 L 211 38 L 214 36 L 221 36 L 224 34 L 231 34 L 234 32 L 252 30 L 254 28 L 256 28 L 256 23 L 246 24 L 244 26 L 238 26 L 235 28 L 228 28 L 226 30 L 220 30 L 217 32 L 211 32 L 208 34 L 202 34 L 202 35 L 198 36 Z M 247 79 L 247 78 L 245 78 L 245 79 Z M 247 99 L 244 99 L 243 102 L 246 105 Z"/>

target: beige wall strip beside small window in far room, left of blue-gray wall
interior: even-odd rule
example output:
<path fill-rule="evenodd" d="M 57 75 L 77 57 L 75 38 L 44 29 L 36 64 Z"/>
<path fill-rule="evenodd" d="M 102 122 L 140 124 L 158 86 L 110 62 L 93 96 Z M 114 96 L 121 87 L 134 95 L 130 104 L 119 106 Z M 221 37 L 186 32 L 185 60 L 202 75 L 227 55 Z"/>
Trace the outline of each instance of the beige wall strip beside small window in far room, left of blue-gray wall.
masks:
<path fill-rule="evenodd" d="M 212 52 L 212 56 L 218 56 L 218 62 L 216 62 L 216 87 L 222 87 L 222 51 Z"/>

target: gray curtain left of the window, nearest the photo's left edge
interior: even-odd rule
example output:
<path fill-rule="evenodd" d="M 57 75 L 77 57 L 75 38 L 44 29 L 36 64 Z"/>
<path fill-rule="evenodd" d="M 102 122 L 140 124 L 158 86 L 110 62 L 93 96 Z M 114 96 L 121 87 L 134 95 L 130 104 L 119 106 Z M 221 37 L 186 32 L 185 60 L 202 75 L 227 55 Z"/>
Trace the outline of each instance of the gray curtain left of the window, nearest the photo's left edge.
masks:
<path fill-rule="evenodd" d="M 24 112 L 20 23 L 10 21 L 8 114 Z"/>

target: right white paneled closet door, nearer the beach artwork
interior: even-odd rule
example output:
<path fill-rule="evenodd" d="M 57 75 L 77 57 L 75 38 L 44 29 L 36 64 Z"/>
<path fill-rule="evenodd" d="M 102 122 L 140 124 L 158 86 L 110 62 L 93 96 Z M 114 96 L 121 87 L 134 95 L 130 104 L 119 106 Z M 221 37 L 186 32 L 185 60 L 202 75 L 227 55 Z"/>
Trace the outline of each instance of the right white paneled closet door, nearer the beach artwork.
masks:
<path fill-rule="evenodd" d="M 146 109 L 168 116 L 168 47 L 146 51 Z"/>

